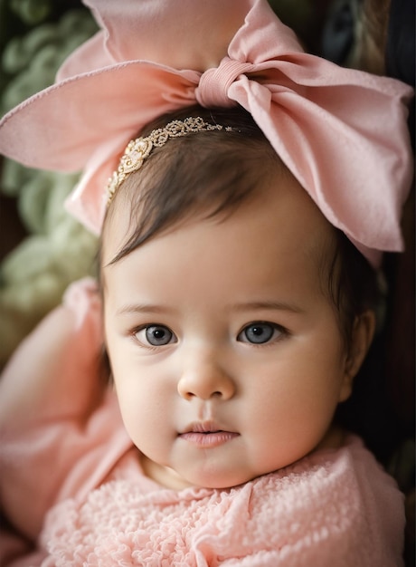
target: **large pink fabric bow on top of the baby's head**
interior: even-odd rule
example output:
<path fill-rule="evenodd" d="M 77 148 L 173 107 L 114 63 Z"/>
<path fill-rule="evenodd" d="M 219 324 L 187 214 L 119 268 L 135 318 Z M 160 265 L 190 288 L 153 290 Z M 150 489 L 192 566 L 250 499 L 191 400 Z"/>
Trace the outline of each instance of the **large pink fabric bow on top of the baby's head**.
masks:
<path fill-rule="evenodd" d="M 84 169 L 68 207 L 99 233 L 119 155 L 150 120 L 241 104 L 328 221 L 374 265 L 402 250 L 412 166 L 402 82 L 304 53 L 267 0 L 85 0 L 103 28 L 0 122 L 0 151 Z M 221 16 L 221 17 L 219 17 Z"/>

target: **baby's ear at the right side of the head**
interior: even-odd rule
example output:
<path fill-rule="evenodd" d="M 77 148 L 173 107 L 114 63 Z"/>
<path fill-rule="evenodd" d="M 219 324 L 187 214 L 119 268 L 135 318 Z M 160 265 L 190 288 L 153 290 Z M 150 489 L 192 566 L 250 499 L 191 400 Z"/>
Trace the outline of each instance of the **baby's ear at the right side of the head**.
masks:
<path fill-rule="evenodd" d="M 351 395 L 355 376 L 373 342 L 374 330 L 375 314 L 373 311 L 364 311 L 355 317 L 349 350 L 345 359 L 345 377 L 339 401 L 345 401 Z"/>

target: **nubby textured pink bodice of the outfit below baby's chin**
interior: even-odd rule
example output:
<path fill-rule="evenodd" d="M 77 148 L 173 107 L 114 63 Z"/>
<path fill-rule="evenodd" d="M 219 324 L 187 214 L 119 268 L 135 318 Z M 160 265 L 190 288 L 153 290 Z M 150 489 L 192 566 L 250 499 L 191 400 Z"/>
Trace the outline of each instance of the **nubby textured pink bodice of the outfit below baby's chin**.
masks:
<path fill-rule="evenodd" d="M 353 438 L 231 490 L 115 481 L 49 515 L 44 566 L 393 567 L 402 503 Z"/>

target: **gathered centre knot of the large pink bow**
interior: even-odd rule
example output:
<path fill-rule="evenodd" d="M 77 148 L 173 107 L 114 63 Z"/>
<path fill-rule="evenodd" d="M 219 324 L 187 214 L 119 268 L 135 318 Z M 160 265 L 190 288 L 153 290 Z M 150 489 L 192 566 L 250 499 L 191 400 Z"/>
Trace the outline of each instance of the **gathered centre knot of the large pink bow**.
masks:
<path fill-rule="evenodd" d="M 203 72 L 195 89 L 196 101 L 205 108 L 234 106 L 235 102 L 230 100 L 228 90 L 232 82 L 252 68 L 251 63 L 224 57 L 218 67 Z"/>

